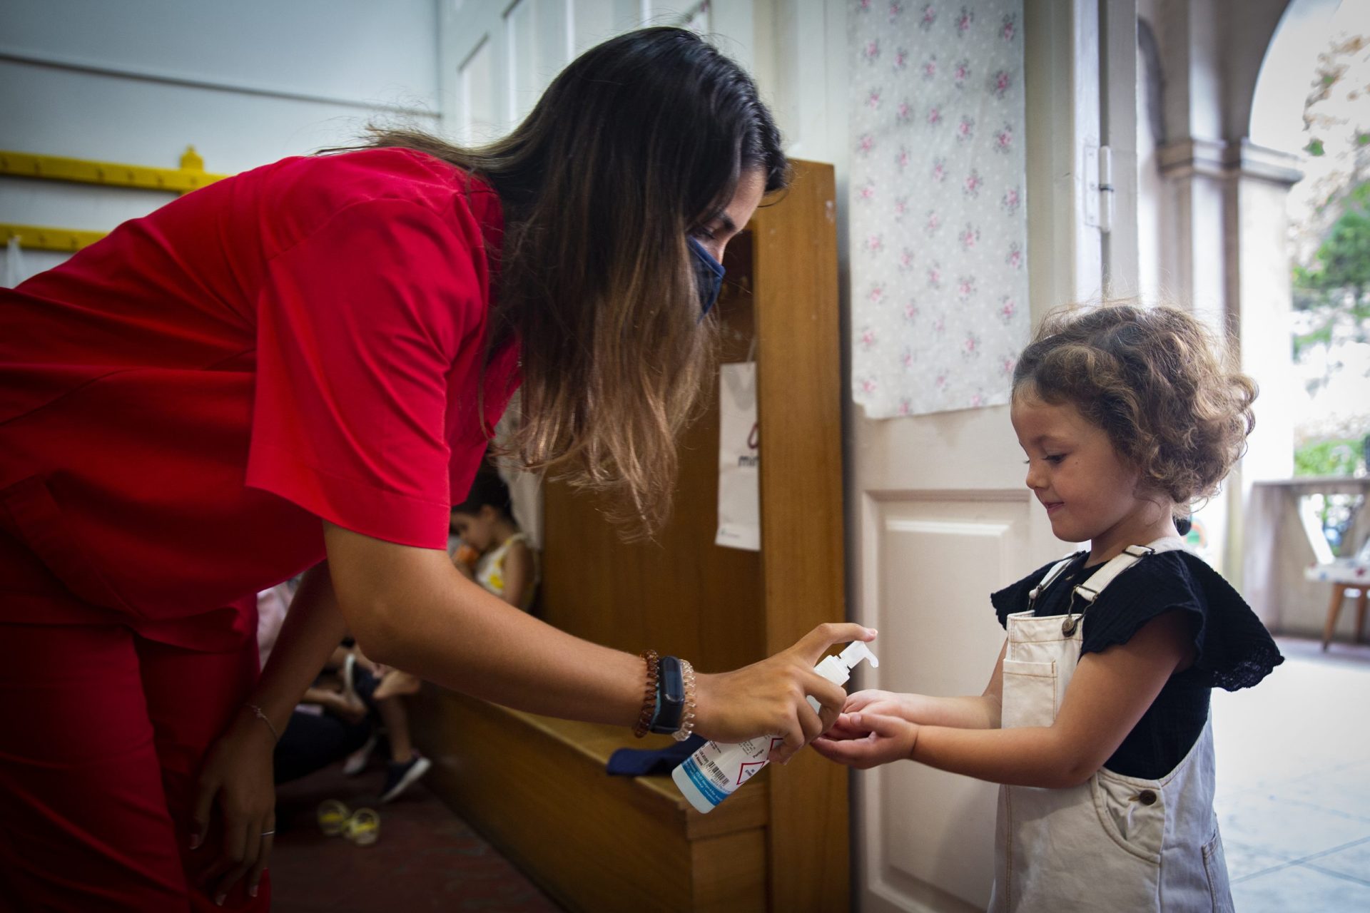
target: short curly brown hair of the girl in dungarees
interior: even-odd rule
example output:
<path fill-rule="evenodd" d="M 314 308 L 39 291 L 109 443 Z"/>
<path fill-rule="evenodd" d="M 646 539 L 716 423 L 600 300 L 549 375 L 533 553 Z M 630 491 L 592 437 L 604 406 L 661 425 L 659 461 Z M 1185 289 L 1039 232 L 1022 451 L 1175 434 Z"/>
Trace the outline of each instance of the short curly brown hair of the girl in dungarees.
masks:
<path fill-rule="evenodd" d="M 1178 516 L 1211 497 L 1245 453 L 1256 385 L 1230 370 L 1217 337 L 1169 307 L 1058 308 L 1014 368 L 1014 397 L 1071 404 L 1103 428 Z"/>

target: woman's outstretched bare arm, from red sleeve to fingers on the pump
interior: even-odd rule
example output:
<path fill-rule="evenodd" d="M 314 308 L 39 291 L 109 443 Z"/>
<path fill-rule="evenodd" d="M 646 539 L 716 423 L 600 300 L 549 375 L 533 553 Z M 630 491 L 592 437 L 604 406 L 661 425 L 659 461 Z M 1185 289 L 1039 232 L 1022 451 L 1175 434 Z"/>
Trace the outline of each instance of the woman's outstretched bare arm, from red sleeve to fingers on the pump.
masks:
<path fill-rule="evenodd" d="M 323 538 L 347 627 L 375 661 L 533 713 L 615 725 L 638 720 L 647 683 L 641 658 L 519 612 L 463 579 L 440 550 L 329 523 Z M 696 731 L 722 742 L 778 734 L 777 757 L 790 757 L 833 723 L 847 699 L 814 664 L 833 643 L 874 636 L 858 624 L 821 624 L 741 669 L 697 672 Z"/>

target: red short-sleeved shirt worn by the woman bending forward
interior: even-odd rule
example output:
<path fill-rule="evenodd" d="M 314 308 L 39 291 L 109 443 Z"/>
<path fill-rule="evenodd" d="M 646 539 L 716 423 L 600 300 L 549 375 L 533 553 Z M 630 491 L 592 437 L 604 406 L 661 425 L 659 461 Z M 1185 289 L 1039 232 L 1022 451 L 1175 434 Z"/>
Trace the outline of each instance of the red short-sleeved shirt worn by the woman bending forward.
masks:
<path fill-rule="evenodd" d="M 319 517 L 445 548 L 480 385 L 489 424 L 516 385 L 514 346 L 482 371 L 501 229 L 418 152 L 285 159 L 0 290 L 0 526 L 148 621 L 316 564 Z"/>

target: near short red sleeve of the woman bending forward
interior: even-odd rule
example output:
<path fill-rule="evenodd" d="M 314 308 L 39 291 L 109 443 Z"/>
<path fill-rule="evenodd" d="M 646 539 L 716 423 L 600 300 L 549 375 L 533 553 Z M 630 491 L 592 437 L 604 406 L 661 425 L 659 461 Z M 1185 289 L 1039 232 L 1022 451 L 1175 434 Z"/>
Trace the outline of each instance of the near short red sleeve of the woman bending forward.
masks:
<path fill-rule="evenodd" d="M 410 200 L 355 203 L 269 266 L 247 483 L 337 526 L 445 548 L 448 378 L 481 345 L 469 231 Z"/>

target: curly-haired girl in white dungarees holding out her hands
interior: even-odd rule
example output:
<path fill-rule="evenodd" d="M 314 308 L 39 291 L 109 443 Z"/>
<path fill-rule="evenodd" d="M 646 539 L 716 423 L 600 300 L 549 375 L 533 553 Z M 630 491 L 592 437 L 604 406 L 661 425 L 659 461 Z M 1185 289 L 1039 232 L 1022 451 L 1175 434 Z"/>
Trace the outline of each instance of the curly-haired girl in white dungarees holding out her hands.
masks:
<path fill-rule="evenodd" d="M 1011 420 L 1052 532 L 1089 549 L 991 597 L 1008 639 L 982 695 L 860 691 L 814 743 L 1003 784 L 992 910 L 1232 909 L 1208 693 L 1282 657 L 1177 517 L 1241 454 L 1254 398 L 1181 311 L 1049 316 Z"/>

